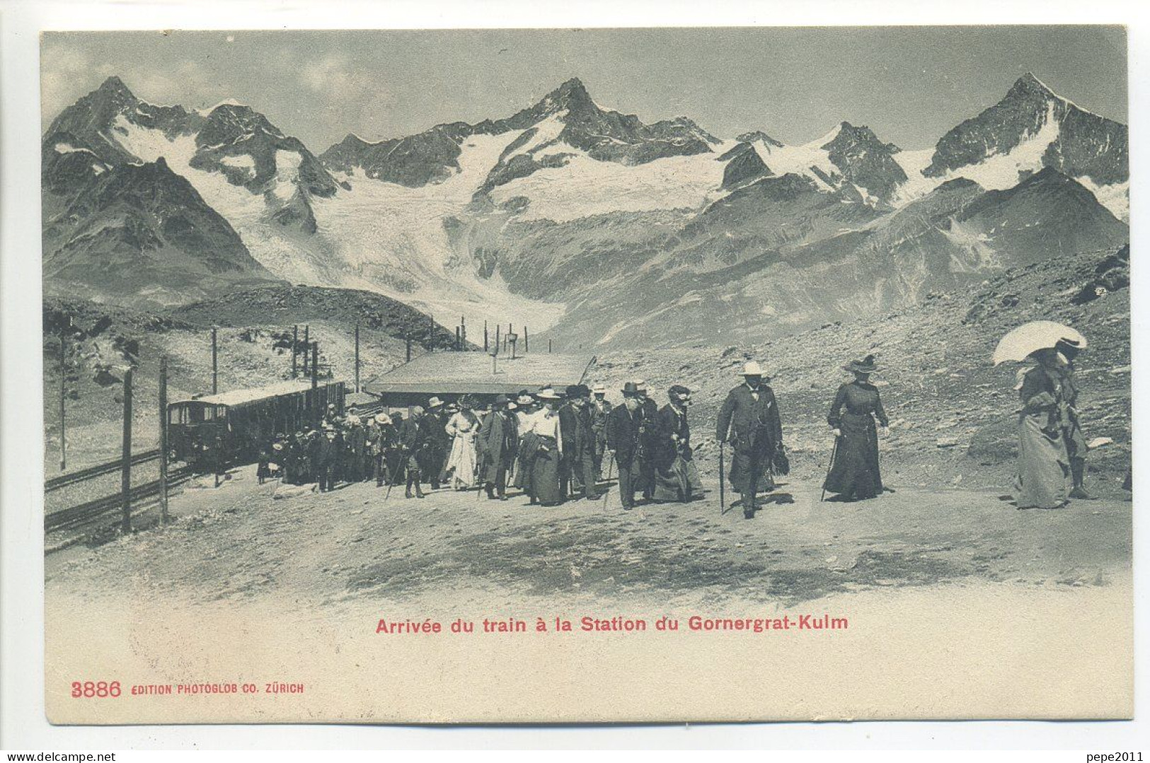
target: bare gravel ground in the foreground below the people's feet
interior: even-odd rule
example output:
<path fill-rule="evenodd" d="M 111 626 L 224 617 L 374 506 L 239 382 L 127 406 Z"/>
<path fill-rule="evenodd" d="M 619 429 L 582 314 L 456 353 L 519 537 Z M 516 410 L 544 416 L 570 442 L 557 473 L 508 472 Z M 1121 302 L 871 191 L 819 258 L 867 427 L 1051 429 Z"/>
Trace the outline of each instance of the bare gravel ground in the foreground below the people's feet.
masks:
<path fill-rule="evenodd" d="M 1020 511 L 992 492 L 898 488 L 831 503 L 811 484 L 783 491 L 793 503 L 745 521 L 737 507 L 720 515 L 713 492 L 629 512 L 614 491 L 555 508 L 474 492 L 407 500 L 401 488 L 384 502 L 374 484 L 320 494 L 258 485 L 245 468 L 220 488 L 185 486 L 168 526 L 49 555 L 47 589 L 309 607 L 460 587 L 497 599 L 795 604 L 964 581 L 1106 586 L 1129 570 L 1126 501 Z"/>

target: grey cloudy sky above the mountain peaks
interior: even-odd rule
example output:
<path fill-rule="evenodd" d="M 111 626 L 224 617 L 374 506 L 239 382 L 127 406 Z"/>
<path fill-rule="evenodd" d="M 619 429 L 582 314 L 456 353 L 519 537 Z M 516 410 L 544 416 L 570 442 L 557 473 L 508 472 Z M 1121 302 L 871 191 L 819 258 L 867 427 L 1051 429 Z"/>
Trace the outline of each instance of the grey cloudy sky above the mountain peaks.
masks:
<path fill-rule="evenodd" d="M 689 116 L 719 137 L 806 142 L 869 125 L 933 146 L 1033 71 L 1126 122 L 1117 26 L 46 33 L 43 116 L 118 75 L 189 108 L 235 99 L 320 153 L 454 121 L 509 116 L 578 77 L 600 106 L 646 122 Z"/>

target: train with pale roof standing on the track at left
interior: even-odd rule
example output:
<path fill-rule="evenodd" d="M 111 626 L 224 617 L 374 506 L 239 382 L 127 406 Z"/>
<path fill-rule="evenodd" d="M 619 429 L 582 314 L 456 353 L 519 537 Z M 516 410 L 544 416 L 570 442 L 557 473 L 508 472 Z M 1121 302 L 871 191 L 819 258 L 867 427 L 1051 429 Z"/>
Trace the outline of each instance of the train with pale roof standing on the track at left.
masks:
<path fill-rule="evenodd" d="M 344 382 L 292 380 L 168 404 L 168 457 L 195 471 L 254 463 L 276 434 L 313 429 L 328 406 L 343 415 Z"/>

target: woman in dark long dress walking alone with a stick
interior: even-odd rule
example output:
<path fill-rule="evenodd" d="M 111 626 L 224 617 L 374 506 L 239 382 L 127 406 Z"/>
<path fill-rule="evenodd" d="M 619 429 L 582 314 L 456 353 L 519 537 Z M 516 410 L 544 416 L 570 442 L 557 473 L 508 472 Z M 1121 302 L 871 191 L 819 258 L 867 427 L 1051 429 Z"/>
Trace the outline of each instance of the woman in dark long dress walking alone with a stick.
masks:
<path fill-rule="evenodd" d="M 835 455 L 823 487 L 837 493 L 841 501 L 859 501 L 882 494 L 875 419 L 883 429 L 889 422 L 879 390 L 871 384 L 871 375 L 880 370 L 874 355 L 851 361 L 843 370 L 854 379 L 838 387 L 827 416 L 834 429 Z"/>

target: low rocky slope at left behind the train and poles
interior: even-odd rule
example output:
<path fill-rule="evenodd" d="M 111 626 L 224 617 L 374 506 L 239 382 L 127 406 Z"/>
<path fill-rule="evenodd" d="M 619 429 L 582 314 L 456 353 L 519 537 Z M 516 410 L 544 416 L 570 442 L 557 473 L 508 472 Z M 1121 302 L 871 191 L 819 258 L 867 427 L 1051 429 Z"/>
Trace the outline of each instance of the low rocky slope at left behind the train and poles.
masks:
<path fill-rule="evenodd" d="M 69 469 L 118 456 L 123 373 L 133 369 L 133 440 L 139 450 L 156 440 L 161 355 L 168 356 L 169 400 L 212 388 L 212 327 L 217 329 L 218 388 L 259 387 L 291 377 L 292 325 L 320 342 L 321 369 L 354 378 L 354 325 L 360 323 L 360 378 L 391 370 L 413 354 L 454 344 L 454 333 L 405 305 L 370 293 L 308 287 L 239 291 L 178 310 L 138 310 L 75 296 L 44 303 L 45 465 L 56 473 L 60 447 L 60 334 L 68 337 L 66 423 Z M 321 377 L 327 378 L 327 377 Z"/>

